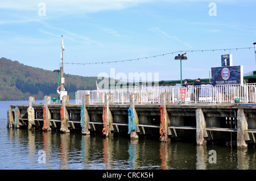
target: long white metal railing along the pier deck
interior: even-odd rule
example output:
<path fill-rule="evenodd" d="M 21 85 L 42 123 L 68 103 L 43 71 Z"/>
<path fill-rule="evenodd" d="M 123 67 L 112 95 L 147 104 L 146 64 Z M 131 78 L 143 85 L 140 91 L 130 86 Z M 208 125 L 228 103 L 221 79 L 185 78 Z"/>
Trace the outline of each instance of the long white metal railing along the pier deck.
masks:
<path fill-rule="evenodd" d="M 170 103 L 229 103 L 239 98 L 240 102 L 256 102 L 256 83 L 246 85 L 201 85 L 201 86 L 163 86 L 134 89 L 79 90 L 76 103 L 81 103 L 83 94 L 90 94 L 90 103 L 104 103 L 106 94 L 113 94 L 113 103 L 129 103 L 131 94 L 138 94 L 140 104 L 160 103 L 160 94 L 170 93 Z"/>

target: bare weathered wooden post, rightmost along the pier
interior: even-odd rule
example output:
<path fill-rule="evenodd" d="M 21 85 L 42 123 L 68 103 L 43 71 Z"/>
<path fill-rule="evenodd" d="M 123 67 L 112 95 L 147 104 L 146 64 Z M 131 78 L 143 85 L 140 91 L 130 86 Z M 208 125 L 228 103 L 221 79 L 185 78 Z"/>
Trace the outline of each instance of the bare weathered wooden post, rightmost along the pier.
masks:
<path fill-rule="evenodd" d="M 243 109 L 237 111 L 237 148 L 246 149 L 245 131 L 248 129 L 245 113 Z"/>

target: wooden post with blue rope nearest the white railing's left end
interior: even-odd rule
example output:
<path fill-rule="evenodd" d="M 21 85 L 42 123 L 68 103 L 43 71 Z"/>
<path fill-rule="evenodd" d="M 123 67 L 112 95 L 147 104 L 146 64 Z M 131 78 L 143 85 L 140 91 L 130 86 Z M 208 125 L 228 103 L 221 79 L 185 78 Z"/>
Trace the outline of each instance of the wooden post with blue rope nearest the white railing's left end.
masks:
<path fill-rule="evenodd" d="M 84 128 L 82 130 L 82 134 L 90 134 L 88 128 L 89 128 L 89 121 L 90 121 L 90 117 L 88 114 L 88 111 L 86 110 L 86 106 L 88 106 L 90 104 L 90 94 L 84 94 L 82 95 L 82 106 L 84 108 L 84 120 L 82 121 L 82 123 L 84 123 L 82 126 L 82 128 Z M 82 119 L 82 117 L 81 117 Z M 82 124 L 81 123 L 81 124 Z"/>

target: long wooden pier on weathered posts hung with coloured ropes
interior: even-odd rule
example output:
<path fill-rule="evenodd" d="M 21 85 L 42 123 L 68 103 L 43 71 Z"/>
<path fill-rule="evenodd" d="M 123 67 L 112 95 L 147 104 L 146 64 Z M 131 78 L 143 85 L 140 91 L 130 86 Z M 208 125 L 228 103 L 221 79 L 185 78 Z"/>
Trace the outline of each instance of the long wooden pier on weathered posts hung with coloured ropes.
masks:
<path fill-rule="evenodd" d="M 64 95 L 61 103 L 52 103 L 51 96 L 45 96 L 44 104 L 35 104 L 30 96 L 28 104 L 10 105 L 7 127 L 106 137 L 117 134 L 131 140 L 159 137 L 162 142 L 188 138 L 197 145 L 230 140 L 232 135 L 242 149 L 256 142 L 253 103 L 216 103 L 202 98 L 198 103 L 172 103 L 171 92 L 160 93 L 155 103 L 142 103 L 141 96 L 134 93 L 129 95 L 129 103 L 116 103 L 115 97 L 104 94 L 102 102 L 93 103 L 92 95 L 82 94 L 81 103 L 69 103 L 69 96 Z"/>

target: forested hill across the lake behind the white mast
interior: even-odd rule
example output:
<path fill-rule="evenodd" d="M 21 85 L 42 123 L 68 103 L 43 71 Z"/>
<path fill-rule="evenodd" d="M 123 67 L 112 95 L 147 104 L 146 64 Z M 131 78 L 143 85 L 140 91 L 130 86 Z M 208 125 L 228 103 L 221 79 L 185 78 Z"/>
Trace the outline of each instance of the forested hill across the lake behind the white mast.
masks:
<path fill-rule="evenodd" d="M 50 70 L 33 68 L 0 58 L 0 100 L 28 100 L 35 96 L 36 100 L 46 95 L 57 98 L 57 73 Z M 75 99 L 77 90 L 95 90 L 97 77 L 82 77 L 64 74 L 65 90 L 69 99 Z"/>

